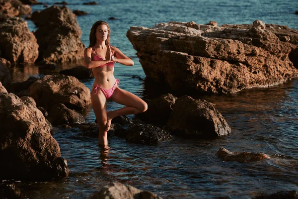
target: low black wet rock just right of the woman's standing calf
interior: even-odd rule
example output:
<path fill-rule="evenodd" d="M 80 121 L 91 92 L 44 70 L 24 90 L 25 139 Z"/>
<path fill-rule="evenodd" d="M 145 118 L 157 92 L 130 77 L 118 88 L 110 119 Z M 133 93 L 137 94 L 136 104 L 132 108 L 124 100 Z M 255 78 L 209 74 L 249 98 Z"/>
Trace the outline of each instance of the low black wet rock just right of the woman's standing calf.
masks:
<path fill-rule="evenodd" d="M 157 126 L 132 123 L 126 130 L 126 140 L 128 142 L 151 145 L 158 144 L 160 141 L 173 140 L 173 137 L 169 132 Z"/>

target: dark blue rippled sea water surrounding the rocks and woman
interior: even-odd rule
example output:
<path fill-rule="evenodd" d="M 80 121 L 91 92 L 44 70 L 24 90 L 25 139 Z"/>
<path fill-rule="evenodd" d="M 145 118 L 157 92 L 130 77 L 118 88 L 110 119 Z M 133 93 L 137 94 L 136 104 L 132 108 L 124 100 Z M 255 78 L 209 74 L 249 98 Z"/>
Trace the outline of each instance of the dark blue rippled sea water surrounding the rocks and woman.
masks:
<path fill-rule="evenodd" d="M 95 0 L 98 5 L 83 5 L 93 0 L 68 0 L 72 10 L 89 15 L 78 16 L 82 42 L 89 45 L 89 31 L 97 20 L 107 21 L 111 28 L 111 44 L 135 62 L 133 67 L 115 66 L 120 87 L 143 98 L 154 95 L 148 90 L 145 74 L 136 51 L 126 37 L 130 26 L 152 27 L 168 21 L 195 21 L 205 24 L 215 20 L 221 24 L 265 23 L 287 25 L 298 29 L 298 0 Z M 49 6 L 58 0 L 39 0 Z M 43 5 L 32 6 L 34 10 Z M 109 20 L 116 17 L 117 20 Z M 31 31 L 36 30 L 28 21 Z M 60 70 L 81 63 L 64 64 L 55 70 L 37 66 L 12 69 L 13 81 L 29 76 L 58 74 Z M 82 81 L 91 89 L 93 79 Z M 157 91 L 156 91 L 157 92 Z M 162 93 L 162 92 L 161 92 Z M 80 135 L 79 130 L 57 129 L 53 137 L 61 147 L 71 170 L 69 177 L 52 182 L 17 183 L 28 199 L 82 199 L 102 186 L 121 182 L 148 190 L 167 199 L 241 198 L 278 191 L 298 191 L 298 79 L 285 84 L 243 90 L 225 96 L 201 96 L 216 104 L 232 129 L 228 136 L 214 140 L 190 140 L 175 137 L 174 141 L 157 146 L 127 143 L 109 137 L 109 151 L 98 148 L 97 139 Z M 108 109 L 120 105 L 109 102 Z M 89 106 L 84 116 L 95 119 Z M 130 116 L 132 117 L 132 116 Z M 260 152 L 271 158 L 252 163 L 224 162 L 217 151 L 224 147 L 234 152 Z"/>

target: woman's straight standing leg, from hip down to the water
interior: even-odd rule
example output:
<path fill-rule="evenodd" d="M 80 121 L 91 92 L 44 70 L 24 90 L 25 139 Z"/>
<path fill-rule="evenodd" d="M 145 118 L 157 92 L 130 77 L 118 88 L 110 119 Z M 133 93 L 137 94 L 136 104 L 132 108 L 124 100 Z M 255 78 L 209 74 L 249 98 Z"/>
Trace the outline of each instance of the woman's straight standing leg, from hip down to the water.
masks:
<path fill-rule="evenodd" d="M 94 94 L 96 93 L 96 94 Z M 98 144 L 107 147 L 108 146 L 108 137 L 107 137 L 107 100 L 103 93 L 98 89 L 98 92 L 91 93 L 91 102 L 95 117 L 98 124 Z"/>

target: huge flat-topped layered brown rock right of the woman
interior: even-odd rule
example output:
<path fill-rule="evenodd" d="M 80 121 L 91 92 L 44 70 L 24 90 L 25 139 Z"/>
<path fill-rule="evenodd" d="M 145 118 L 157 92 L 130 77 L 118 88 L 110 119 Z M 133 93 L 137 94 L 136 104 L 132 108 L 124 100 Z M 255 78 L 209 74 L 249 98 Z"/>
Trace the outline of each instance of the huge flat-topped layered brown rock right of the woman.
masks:
<path fill-rule="evenodd" d="M 127 37 L 149 79 L 179 94 L 226 94 L 298 77 L 298 45 L 262 28 L 260 21 L 245 29 L 169 22 L 133 26 Z"/>

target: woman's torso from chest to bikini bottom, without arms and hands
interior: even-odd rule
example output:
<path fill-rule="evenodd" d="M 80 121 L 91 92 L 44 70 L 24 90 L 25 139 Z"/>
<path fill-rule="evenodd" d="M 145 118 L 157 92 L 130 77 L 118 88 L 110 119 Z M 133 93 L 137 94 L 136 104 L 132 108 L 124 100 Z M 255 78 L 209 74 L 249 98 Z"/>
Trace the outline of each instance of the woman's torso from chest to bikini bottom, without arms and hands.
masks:
<path fill-rule="evenodd" d="M 106 50 L 107 49 L 98 49 L 92 47 L 92 61 L 105 60 Z M 112 47 L 111 51 L 112 54 L 114 54 Z M 92 68 L 92 72 L 95 78 L 93 85 L 99 85 L 101 88 L 110 89 L 116 81 L 114 77 L 114 64 L 114 62 L 109 62 L 96 68 Z"/>

